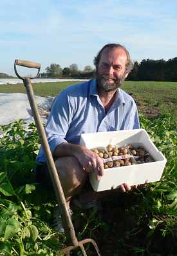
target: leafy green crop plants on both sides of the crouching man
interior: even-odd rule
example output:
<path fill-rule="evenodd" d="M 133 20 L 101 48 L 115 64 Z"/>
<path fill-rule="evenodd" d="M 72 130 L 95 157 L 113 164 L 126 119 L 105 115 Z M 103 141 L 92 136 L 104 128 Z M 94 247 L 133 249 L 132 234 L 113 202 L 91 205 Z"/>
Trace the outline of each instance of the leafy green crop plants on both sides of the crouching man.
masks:
<path fill-rule="evenodd" d="M 140 123 L 167 158 L 167 165 L 160 182 L 131 192 L 131 204 L 126 204 L 126 215 L 132 215 L 133 209 L 134 214 L 136 212 L 135 232 L 129 228 L 120 239 L 116 230 L 117 245 L 114 254 L 110 255 L 122 255 L 122 250 L 124 255 L 176 255 L 176 120 L 174 115 L 168 114 L 152 120 L 140 115 Z M 0 255 L 55 255 L 66 245 L 66 238 L 50 228 L 55 197 L 35 181 L 32 168 L 40 146 L 39 136 L 35 124 L 29 124 L 27 128 L 26 132 L 22 120 L 0 126 L 3 133 L 0 141 Z M 122 198 L 128 196 L 122 195 Z M 113 207 L 113 202 L 111 205 Z M 125 210 L 124 205 L 122 209 Z M 113 227 L 110 228 L 109 221 L 100 219 L 94 210 L 76 210 L 74 217 L 76 222 L 81 220 L 76 228 L 79 238 L 91 236 L 97 239 L 98 244 L 102 244 L 102 235 L 99 234 L 103 232 L 111 238 Z M 136 242 L 137 233 L 144 229 L 141 243 Z M 153 241 L 154 234 L 156 241 L 170 238 L 172 246 L 168 250 L 160 250 Z M 105 250 L 102 255 L 109 254 Z"/>

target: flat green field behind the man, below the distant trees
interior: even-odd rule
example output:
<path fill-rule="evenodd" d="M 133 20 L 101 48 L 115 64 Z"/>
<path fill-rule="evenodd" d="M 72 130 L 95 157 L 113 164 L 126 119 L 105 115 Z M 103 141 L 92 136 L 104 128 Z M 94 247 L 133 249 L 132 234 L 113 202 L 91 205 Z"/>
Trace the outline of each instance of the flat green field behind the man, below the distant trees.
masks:
<path fill-rule="evenodd" d="M 35 95 L 55 96 L 70 84 L 75 82 L 36 83 L 33 84 Z M 156 112 L 175 112 L 177 109 L 177 82 L 145 82 L 126 81 L 122 89 L 133 94 L 140 112 L 151 114 Z M 8 84 L 0 86 L 0 93 L 25 93 L 23 84 Z"/>

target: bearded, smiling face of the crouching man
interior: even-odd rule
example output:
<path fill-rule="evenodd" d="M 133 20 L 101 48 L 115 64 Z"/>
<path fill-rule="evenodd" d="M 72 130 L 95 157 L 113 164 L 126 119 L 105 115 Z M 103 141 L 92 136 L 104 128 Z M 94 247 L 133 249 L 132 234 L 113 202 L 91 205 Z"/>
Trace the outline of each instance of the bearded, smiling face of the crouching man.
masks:
<path fill-rule="evenodd" d="M 106 48 L 101 54 L 96 72 L 98 88 L 111 92 L 120 87 L 128 75 L 126 62 L 127 55 L 122 48 Z"/>

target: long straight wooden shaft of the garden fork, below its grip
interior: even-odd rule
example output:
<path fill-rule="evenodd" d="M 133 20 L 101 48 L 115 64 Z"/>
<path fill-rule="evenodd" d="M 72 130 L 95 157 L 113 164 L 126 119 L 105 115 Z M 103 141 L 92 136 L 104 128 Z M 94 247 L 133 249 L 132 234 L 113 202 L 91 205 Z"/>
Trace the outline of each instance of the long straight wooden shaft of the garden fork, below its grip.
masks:
<path fill-rule="evenodd" d="M 64 197 L 64 193 L 62 190 L 59 175 L 57 173 L 57 169 L 55 167 L 55 163 L 54 163 L 53 157 L 51 155 L 50 146 L 48 144 L 48 141 L 46 138 L 46 133 L 44 131 L 44 126 L 42 125 L 41 117 L 37 110 L 37 104 L 35 103 L 35 97 L 33 94 L 33 88 L 32 88 L 30 78 L 28 78 L 28 77 L 24 78 L 23 83 L 24 83 L 24 86 L 26 87 L 26 93 L 27 93 L 28 99 L 30 101 L 30 106 L 32 108 L 33 117 L 35 119 L 35 124 L 37 126 L 37 131 L 41 138 L 41 144 L 43 146 L 44 153 L 46 155 L 46 161 L 48 164 L 51 181 L 52 181 L 53 187 L 55 189 L 55 195 L 57 197 L 57 201 L 59 202 L 59 205 L 62 208 L 62 223 L 64 226 L 67 243 L 70 246 L 77 246 L 77 244 L 78 244 L 77 237 L 75 236 L 75 230 L 73 227 L 73 223 L 71 221 L 70 213 L 68 212 L 68 209 L 66 206 L 66 199 Z"/>

